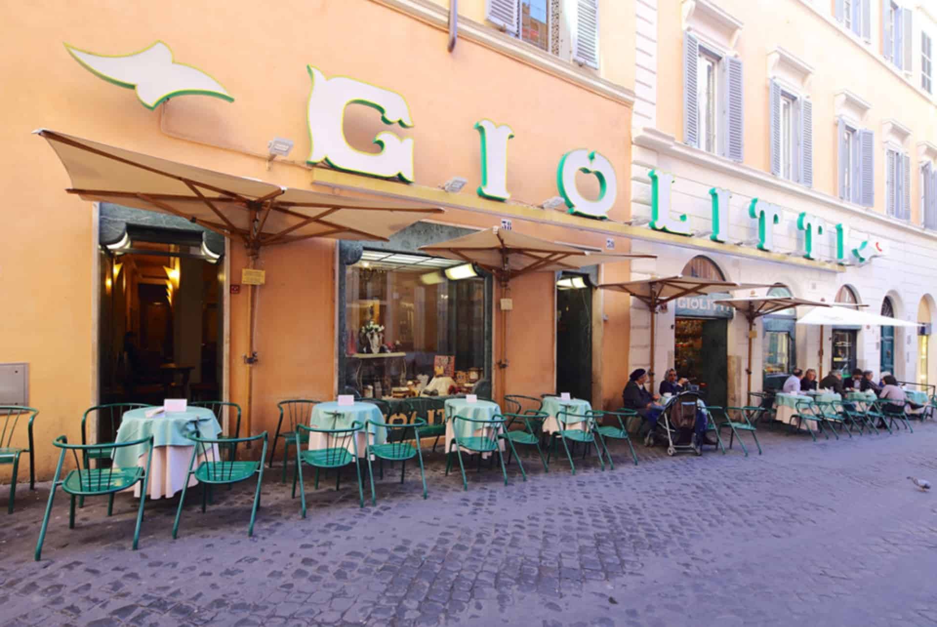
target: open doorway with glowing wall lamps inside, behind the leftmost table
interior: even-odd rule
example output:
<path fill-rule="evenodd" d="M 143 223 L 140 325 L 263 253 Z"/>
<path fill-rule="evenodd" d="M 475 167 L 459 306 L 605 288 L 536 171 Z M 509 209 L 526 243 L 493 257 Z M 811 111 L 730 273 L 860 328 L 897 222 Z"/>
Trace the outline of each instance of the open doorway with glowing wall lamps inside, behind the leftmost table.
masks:
<path fill-rule="evenodd" d="M 224 266 L 202 232 L 127 224 L 100 256 L 99 402 L 220 400 Z"/>

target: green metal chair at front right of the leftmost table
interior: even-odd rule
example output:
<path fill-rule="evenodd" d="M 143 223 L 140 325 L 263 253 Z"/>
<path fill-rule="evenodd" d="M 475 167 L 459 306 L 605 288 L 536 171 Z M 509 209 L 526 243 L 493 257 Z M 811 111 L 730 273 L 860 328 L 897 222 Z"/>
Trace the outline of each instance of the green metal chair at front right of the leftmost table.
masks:
<path fill-rule="evenodd" d="M 182 485 L 182 495 L 179 497 L 179 509 L 176 510 L 175 522 L 172 523 L 172 539 L 179 533 L 179 521 L 182 518 L 182 508 L 186 503 L 186 491 L 191 477 L 195 477 L 201 484 L 201 513 L 205 513 L 208 502 L 208 493 L 214 485 L 233 485 L 250 479 L 257 475 L 257 488 L 254 491 L 254 506 L 250 511 L 250 526 L 247 536 L 254 535 L 254 520 L 257 518 L 257 508 L 260 506 L 260 485 L 263 482 L 263 459 L 267 453 L 267 432 L 250 438 L 201 438 L 198 435 L 189 436 L 192 440 L 192 456 L 188 461 L 186 482 Z M 233 457 L 222 459 L 221 451 L 224 446 L 236 447 L 241 442 L 254 442 L 263 440 L 259 461 L 237 461 Z M 216 453 L 217 451 L 217 453 Z M 201 458 L 198 468 L 195 463 Z"/>

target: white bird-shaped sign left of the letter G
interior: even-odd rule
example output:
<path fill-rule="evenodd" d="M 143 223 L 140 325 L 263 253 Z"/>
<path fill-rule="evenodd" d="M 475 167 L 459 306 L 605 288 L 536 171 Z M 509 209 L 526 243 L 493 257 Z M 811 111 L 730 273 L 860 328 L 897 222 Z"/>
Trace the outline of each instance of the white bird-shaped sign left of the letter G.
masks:
<path fill-rule="evenodd" d="M 228 102 L 234 98 L 220 82 L 198 67 L 172 60 L 172 51 L 162 41 L 131 54 L 106 56 L 79 50 L 65 44 L 66 50 L 82 67 L 115 85 L 134 89 L 147 109 L 174 96 L 201 95 Z"/>

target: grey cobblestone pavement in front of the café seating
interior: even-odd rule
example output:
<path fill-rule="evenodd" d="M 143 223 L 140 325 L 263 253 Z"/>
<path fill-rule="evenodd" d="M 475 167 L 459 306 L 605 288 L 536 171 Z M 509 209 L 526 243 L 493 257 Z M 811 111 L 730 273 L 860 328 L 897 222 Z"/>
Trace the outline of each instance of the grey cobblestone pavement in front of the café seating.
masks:
<path fill-rule="evenodd" d="M 852 440 L 762 430 L 765 455 L 669 458 L 617 447 L 548 474 L 528 459 L 443 475 L 429 500 L 416 473 L 378 483 L 359 509 L 353 474 L 326 481 L 308 517 L 275 469 L 247 538 L 250 485 L 199 490 L 171 540 L 175 501 L 147 503 L 130 550 L 134 500 L 89 500 L 67 529 L 57 500 L 32 560 L 48 485 L 21 488 L 0 529 L 7 624 L 924 625 L 937 623 L 937 425 Z"/>

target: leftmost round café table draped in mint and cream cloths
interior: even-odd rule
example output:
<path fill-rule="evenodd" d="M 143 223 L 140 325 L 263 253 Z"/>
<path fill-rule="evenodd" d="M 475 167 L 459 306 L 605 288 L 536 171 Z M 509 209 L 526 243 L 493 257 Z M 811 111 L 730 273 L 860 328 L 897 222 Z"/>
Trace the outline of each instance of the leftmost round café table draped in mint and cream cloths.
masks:
<path fill-rule="evenodd" d="M 151 499 L 169 499 L 182 490 L 188 476 L 193 449 L 188 437 L 196 435 L 198 429 L 202 438 L 215 439 L 221 434 L 221 425 L 218 424 L 215 414 L 204 407 L 161 412 L 147 418 L 146 412 L 154 409 L 156 408 L 140 407 L 125 411 L 114 441 L 120 443 L 153 436 L 153 461 L 150 464 L 147 492 Z M 217 446 L 214 448 L 214 459 L 218 459 Z M 199 462 L 204 460 L 204 455 L 199 455 Z M 138 444 L 115 449 L 113 464 L 117 468 L 146 466 L 146 447 Z M 194 476 L 189 478 L 189 487 L 198 483 Z M 135 497 L 140 497 L 140 488 L 140 484 L 133 487 Z"/>

